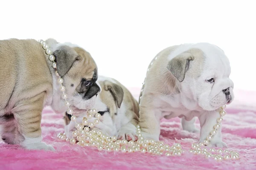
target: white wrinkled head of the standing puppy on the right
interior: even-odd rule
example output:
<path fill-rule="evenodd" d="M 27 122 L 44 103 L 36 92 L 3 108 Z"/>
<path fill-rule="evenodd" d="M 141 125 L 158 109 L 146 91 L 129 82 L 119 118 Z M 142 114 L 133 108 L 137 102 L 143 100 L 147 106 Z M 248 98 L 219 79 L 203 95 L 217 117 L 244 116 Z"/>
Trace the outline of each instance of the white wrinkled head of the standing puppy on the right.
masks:
<path fill-rule="evenodd" d="M 185 77 L 180 82 L 181 95 L 207 111 L 230 104 L 234 98 L 234 84 L 229 78 L 231 68 L 227 56 L 209 43 L 198 43 L 191 48 L 185 57 L 190 58 L 185 64 Z"/>

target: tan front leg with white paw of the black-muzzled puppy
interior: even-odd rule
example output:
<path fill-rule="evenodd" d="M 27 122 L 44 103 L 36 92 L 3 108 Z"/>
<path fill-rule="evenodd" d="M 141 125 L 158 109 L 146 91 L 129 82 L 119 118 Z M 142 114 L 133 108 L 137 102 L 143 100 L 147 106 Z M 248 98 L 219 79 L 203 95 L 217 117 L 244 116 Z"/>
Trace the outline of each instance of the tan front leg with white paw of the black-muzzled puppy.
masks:
<path fill-rule="evenodd" d="M 42 141 L 41 117 L 45 93 L 42 92 L 35 97 L 17 104 L 12 109 L 17 121 L 18 130 L 25 138 L 21 146 L 30 150 L 54 150 L 50 145 Z"/>

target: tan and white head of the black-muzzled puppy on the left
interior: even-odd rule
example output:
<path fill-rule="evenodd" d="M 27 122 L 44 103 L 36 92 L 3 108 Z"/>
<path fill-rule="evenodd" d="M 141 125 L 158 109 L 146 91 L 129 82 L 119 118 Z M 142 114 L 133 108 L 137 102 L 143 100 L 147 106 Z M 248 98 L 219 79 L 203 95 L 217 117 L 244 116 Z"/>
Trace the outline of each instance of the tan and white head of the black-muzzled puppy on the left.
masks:
<path fill-rule="evenodd" d="M 53 49 L 53 55 L 56 58 L 58 74 L 63 78 L 70 107 L 75 113 L 92 108 L 100 86 L 96 83 L 98 69 L 90 53 L 74 44 L 58 43 Z"/>

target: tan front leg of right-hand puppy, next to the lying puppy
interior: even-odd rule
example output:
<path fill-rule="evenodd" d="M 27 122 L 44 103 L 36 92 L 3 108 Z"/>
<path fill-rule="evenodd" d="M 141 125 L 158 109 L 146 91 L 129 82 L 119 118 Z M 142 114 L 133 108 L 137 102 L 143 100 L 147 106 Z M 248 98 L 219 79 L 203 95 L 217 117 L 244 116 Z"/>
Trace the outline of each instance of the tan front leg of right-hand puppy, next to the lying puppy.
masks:
<path fill-rule="evenodd" d="M 157 110 L 154 109 L 153 104 L 149 101 L 146 97 L 140 101 L 139 125 L 143 137 L 159 141 L 160 118 L 157 115 L 160 115 L 160 113 L 156 113 Z"/>

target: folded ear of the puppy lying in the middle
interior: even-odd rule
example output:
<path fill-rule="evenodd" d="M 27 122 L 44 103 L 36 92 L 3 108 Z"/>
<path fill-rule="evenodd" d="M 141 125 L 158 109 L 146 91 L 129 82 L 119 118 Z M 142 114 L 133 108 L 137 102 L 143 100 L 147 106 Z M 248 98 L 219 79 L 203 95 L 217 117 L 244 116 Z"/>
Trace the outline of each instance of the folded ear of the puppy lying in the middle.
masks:
<path fill-rule="evenodd" d="M 109 90 L 116 101 L 117 107 L 120 108 L 122 100 L 124 98 L 124 91 L 119 85 L 112 83 L 110 81 L 104 81 L 105 90 Z"/>

